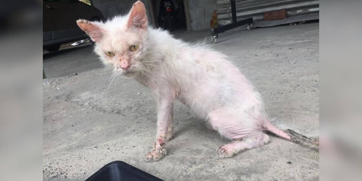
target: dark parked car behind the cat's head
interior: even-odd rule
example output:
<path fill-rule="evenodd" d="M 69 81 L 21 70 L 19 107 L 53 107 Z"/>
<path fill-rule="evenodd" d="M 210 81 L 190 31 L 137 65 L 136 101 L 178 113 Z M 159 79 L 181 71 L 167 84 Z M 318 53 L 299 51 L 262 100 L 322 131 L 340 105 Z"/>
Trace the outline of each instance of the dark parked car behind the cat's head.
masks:
<path fill-rule="evenodd" d="M 103 20 L 97 8 L 78 0 L 43 0 L 43 48 L 59 50 L 61 43 L 88 38 L 76 20 Z"/>

